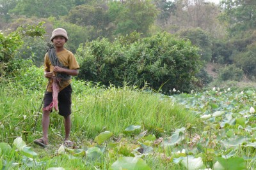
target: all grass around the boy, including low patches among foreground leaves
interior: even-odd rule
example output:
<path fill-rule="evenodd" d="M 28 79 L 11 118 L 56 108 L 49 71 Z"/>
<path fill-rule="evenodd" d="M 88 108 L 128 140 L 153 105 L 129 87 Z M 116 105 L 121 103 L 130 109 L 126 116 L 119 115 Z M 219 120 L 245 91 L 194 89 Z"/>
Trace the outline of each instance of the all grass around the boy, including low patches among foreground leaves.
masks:
<path fill-rule="evenodd" d="M 140 132 L 147 135 L 154 134 L 156 138 L 170 136 L 175 129 L 188 124 L 196 126 L 196 116 L 185 108 L 173 104 L 169 97 L 150 92 L 148 90 L 132 89 L 130 87 L 103 89 L 97 85 L 73 81 L 74 93 L 72 96 L 72 132 L 71 139 L 76 142 L 77 149 L 87 150 L 97 143 L 93 142 L 100 132 L 111 131 L 113 136 L 108 145 L 116 145 L 115 151 L 107 143 L 103 157 L 99 160 L 89 160 L 84 157 L 70 159 L 68 155 L 58 155 L 63 136 L 63 118 L 58 113 L 51 113 L 49 127 L 49 142 L 47 148 L 33 145 L 33 140 L 42 136 L 41 118 L 38 109 L 44 96 L 44 87 L 47 81 L 42 81 L 42 89 L 26 89 L 17 83 L 4 83 L 0 87 L 0 142 L 12 146 L 13 140 L 19 136 L 38 153 L 36 161 L 8 157 L 5 168 L 12 169 L 47 169 L 48 167 L 68 167 L 66 169 L 109 169 L 122 155 L 129 156 L 140 147 L 137 137 Z M 19 81 L 18 81 L 19 82 Z M 26 83 L 28 84 L 28 83 Z M 39 86 L 40 87 L 40 86 Z M 37 120 L 38 119 L 38 120 Z M 35 122 L 37 120 L 36 128 Z M 124 130 L 129 125 L 140 125 L 141 129 L 131 133 Z M 106 147 L 104 147 L 106 146 Z M 13 147 L 14 150 L 14 147 Z M 14 152 L 14 151 L 13 151 Z M 152 169 L 166 169 L 173 167 L 182 169 L 161 156 L 170 154 L 170 150 L 157 148 L 154 155 L 143 158 Z M 15 154 L 14 154 L 15 155 Z M 57 156 L 58 155 L 58 156 Z M 10 162 L 17 162 L 17 167 Z M 26 162 L 26 163 L 25 163 Z M 38 164 L 36 166 L 36 164 Z"/>

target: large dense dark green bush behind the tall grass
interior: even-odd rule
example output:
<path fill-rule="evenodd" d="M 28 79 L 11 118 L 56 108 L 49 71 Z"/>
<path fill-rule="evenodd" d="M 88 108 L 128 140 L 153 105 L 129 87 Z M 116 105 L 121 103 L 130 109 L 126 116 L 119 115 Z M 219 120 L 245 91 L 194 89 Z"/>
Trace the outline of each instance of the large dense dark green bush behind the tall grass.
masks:
<path fill-rule="evenodd" d="M 189 88 L 200 68 L 198 49 L 189 41 L 166 32 L 143 39 L 131 34 L 134 43 L 124 43 L 124 39 L 129 38 L 120 37 L 113 43 L 102 39 L 80 47 L 76 54 L 79 78 L 116 86 L 126 81 L 143 87 L 146 81 L 152 89 L 164 92 Z"/>

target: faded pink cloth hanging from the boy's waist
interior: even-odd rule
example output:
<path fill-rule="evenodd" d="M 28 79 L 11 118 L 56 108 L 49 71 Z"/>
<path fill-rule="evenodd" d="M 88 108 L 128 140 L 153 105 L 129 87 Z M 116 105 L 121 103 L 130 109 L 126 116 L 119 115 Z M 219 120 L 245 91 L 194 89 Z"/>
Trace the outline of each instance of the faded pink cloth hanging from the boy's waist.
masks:
<path fill-rule="evenodd" d="M 49 106 L 45 107 L 44 110 L 51 111 L 52 108 L 58 111 L 58 94 L 60 92 L 60 87 L 58 85 L 58 80 L 53 78 L 52 82 L 52 103 Z"/>

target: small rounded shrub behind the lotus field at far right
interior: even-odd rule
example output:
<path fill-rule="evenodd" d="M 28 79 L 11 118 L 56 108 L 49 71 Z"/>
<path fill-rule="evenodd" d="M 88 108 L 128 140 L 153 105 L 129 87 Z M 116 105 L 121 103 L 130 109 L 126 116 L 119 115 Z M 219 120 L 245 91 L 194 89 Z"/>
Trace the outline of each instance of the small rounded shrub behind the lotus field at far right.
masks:
<path fill-rule="evenodd" d="M 243 79 L 244 72 L 239 67 L 236 67 L 235 64 L 230 64 L 228 66 L 223 67 L 219 71 L 220 80 L 235 80 L 241 81 Z"/>

